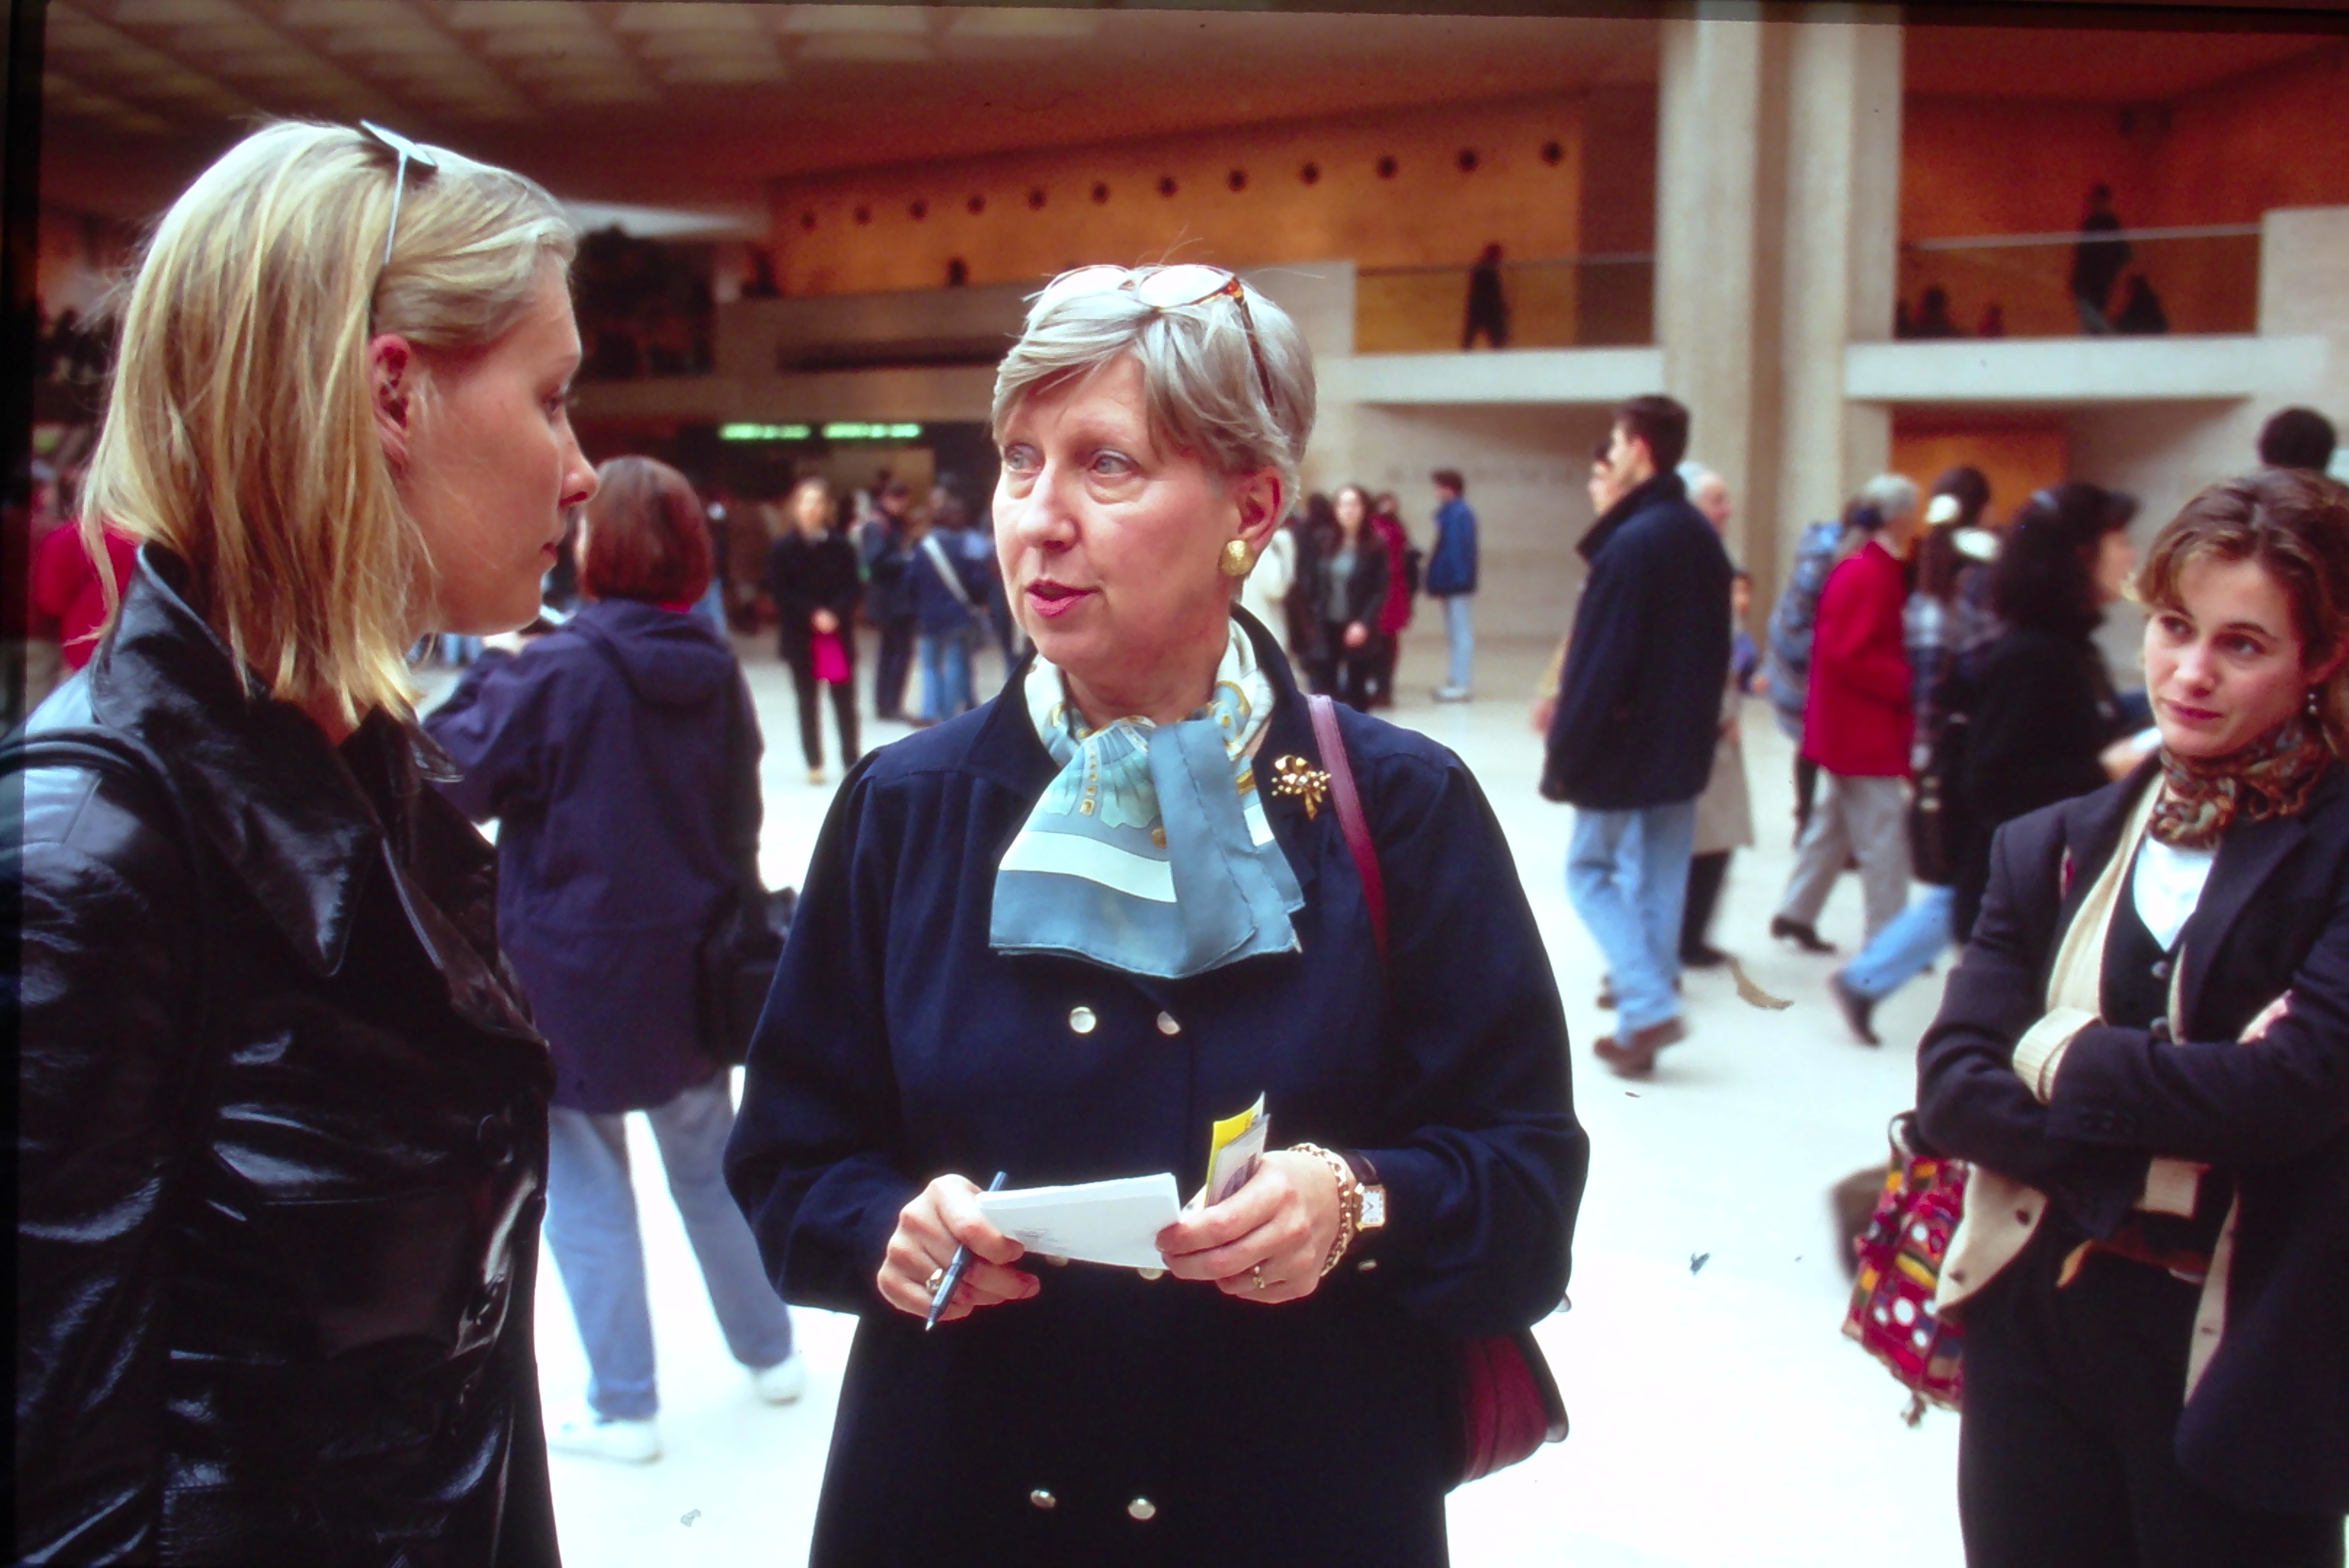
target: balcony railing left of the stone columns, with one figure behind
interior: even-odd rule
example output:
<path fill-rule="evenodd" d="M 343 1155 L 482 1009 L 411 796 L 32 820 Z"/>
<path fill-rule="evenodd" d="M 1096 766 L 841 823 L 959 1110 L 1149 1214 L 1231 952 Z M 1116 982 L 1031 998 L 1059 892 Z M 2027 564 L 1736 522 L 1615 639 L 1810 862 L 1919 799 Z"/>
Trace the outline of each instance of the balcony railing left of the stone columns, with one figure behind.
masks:
<path fill-rule="evenodd" d="M 1654 256 L 1506 261 L 1499 333 L 1475 268 L 1362 268 L 1355 272 L 1353 347 L 1360 354 L 1440 354 L 1475 347 L 1630 347 L 1656 340 Z M 1489 289 L 1489 286 L 1487 286 Z M 1489 300 L 1489 293 L 1482 293 Z M 1499 343 L 1494 340 L 1499 338 Z"/>

